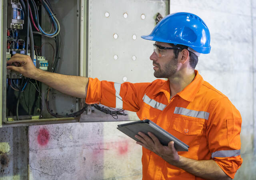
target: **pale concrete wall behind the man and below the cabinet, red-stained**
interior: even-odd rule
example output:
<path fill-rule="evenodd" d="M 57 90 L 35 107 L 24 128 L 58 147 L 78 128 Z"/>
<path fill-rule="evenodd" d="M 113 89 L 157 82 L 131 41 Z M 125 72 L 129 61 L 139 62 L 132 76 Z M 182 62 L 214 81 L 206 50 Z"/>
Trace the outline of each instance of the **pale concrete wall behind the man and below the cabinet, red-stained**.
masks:
<path fill-rule="evenodd" d="M 192 12 L 208 25 L 212 50 L 197 69 L 240 110 L 244 162 L 235 179 L 256 179 L 256 1 L 170 0 L 170 11 Z M 141 179 L 141 148 L 117 124 L 2 128 L 0 179 Z"/>

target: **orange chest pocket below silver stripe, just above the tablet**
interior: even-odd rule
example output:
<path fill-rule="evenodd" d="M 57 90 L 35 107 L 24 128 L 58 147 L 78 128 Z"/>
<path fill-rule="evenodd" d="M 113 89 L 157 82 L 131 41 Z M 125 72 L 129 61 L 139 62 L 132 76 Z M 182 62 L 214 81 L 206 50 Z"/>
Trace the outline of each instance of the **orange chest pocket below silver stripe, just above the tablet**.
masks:
<path fill-rule="evenodd" d="M 172 128 L 184 135 L 201 134 L 204 127 L 204 120 L 190 118 L 175 118 Z"/>

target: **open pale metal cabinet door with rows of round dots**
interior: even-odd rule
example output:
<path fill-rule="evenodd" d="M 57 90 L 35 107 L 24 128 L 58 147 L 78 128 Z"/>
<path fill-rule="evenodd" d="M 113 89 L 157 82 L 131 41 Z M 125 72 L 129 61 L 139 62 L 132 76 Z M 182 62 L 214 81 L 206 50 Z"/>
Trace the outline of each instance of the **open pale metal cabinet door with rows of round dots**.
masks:
<path fill-rule="evenodd" d="M 170 12 L 169 0 L 89 0 L 88 1 L 88 64 L 85 74 L 91 78 L 123 82 L 155 80 L 152 61 L 154 41 L 140 36 L 150 34 L 156 15 Z M 112 121 L 91 108 L 90 115 L 80 121 Z M 134 112 L 118 116 L 118 120 L 138 120 Z"/>

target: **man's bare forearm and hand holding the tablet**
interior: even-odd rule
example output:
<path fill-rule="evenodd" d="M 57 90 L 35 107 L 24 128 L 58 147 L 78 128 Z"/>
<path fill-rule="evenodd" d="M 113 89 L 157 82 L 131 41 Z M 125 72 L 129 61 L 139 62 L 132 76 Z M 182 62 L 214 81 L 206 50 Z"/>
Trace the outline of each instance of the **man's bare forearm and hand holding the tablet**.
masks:
<path fill-rule="evenodd" d="M 231 180 L 214 160 L 194 160 L 179 156 L 173 141 L 170 141 L 168 146 L 163 146 L 158 138 L 150 132 L 148 132 L 148 136 L 142 132 L 138 134 L 140 136 L 136 135 L 135 138 L 141 142 L 137 142 L 137 144 L 151 150 L 169 164 L 204 179 Z"/>

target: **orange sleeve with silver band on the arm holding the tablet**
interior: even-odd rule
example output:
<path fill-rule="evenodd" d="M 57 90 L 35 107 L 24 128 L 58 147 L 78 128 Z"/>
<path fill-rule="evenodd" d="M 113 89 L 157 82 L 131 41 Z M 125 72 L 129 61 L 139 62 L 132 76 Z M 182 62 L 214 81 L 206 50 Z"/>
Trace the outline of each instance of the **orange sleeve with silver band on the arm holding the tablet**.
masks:
<path fill-rule="evenodd" d="M 212 159 L 230 178 L 234 178 L 243 160 L 240 156 L 240 112 L 223 97 L 210 107 L 206 136 Z"/>

